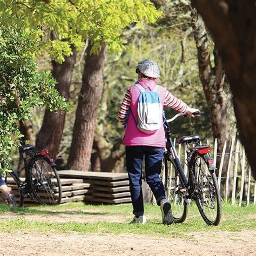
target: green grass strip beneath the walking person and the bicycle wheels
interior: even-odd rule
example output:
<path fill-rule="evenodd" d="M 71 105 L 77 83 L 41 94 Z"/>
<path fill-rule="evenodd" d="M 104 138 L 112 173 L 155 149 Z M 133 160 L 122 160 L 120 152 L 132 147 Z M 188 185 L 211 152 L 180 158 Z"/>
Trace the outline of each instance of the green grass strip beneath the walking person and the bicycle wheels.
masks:
<path fill-rule="evenodd" d="M 84 205 L 83 203 L 71 203 L 57 206 L 37 207 L 9 207 L 0 205 L 2 220 L 0 228 L 2 232 L 15 230 L 30 230 L 39 232 L 78 232 L 78 233 L 134 233 L 150 235 L 168 235 L 170 237 L 188 237 L 190 232 L 208 231 L 241 231 L 256 230 L 256 205 L 238 207 L 231 204 L 223 204 L 223 214 L 219 226 L 207 226 L 201 218 L 196 205 L 192 204 L 188 210 L 188 217 L 183 224 L 165 226 L 161 224 L 161 213 L 158 206 L 145 205 L 147 217 L 146 225 L 129 225 L 132 219 L 131 205 Z M 9 218 L 12 216 L 12 218 Z M 26 217 L 33 216 L 32 220 Z M 3 218 L 4 217 L 4 218 Z M 38 217 L 38 220 L 37 220 Z M 44 217 L 44 220 L 40 220 Z M 56 217 L 65 220 L 56 221 Z M 96 218 L 95 221 L 72 221 L 72 218 Z M 112 218 L 107 221 L 107 218 Z M 46 220 L 45 220 L 46 219 Z M 68 220 L 67 220 L 68 219 Z"/>

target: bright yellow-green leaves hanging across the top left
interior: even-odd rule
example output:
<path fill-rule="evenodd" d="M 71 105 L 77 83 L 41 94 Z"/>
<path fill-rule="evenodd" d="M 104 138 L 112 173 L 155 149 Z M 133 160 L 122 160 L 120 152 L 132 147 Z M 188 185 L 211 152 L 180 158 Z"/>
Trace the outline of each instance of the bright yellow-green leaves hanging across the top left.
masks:
<path fill-rule="evenodd" d="M 44 48 L 59 63 L 70 56 L 71 44 L 79 50 L 88 38 L 92 52 L 102 43 L 119 52 L 120 33 L 132 23 L 153 23 L 161 15 L 150 0 L 0 0 L 0 22 L 18 28 L 44 32 Z M 62 41 L 62 42 L 61 42 Z M 64 42 L 63 42 L 64 41 Z"/>

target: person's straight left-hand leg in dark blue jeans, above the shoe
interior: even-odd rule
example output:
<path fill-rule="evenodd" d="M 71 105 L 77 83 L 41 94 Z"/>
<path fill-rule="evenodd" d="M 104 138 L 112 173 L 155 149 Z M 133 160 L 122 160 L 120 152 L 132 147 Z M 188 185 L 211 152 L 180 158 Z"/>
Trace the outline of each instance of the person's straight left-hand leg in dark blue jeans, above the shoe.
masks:
<path fill-rule="evenodd" d="M 142 194 L 143 146 L 126 146 L 126 169 L 129 175 L 133 214 L 144 214 Z"/>

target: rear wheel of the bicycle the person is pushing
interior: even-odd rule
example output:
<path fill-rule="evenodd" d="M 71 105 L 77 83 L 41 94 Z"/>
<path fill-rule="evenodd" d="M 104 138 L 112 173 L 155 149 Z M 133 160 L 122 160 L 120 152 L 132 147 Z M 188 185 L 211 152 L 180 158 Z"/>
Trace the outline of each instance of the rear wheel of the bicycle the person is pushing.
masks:
<path fill-rule="evenodd" d="M 198 156 L 194 165 L 197 207 L 207 225 L 217 226 L 221 218 L 221 197 L 215 172 L 211 173 L 203 157 Z"/>

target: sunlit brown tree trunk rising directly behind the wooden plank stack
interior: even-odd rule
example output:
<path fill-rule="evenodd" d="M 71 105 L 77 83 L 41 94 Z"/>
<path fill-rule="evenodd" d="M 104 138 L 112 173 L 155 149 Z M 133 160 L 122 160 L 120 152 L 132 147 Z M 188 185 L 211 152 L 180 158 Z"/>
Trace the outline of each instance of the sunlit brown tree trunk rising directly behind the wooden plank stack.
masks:
<path fill-rule="evenodd" d="M 86 49 L 83 83 L 78 97 L 68 159 L 68 167 L 73 170 L 89 170 L 98 105 L 103 89 L 106 44 L 102 44 L 98 55 L 90 54 L 91 47 L 89 43 Z"/>

